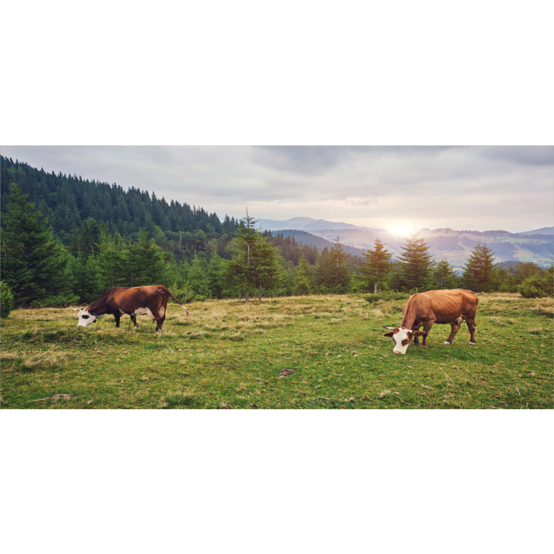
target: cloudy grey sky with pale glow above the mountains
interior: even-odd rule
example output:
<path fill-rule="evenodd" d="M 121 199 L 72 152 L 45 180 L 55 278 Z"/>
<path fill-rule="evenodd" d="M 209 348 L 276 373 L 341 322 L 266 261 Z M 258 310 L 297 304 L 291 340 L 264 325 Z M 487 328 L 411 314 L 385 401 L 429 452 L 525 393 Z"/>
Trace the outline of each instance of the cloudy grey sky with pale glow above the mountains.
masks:
<path fill-rule="evenodd" d="M 36 168 L 220 217 L 312 217 L 399 234 L 554 225 L 551 146 L 2 146 Z"/>

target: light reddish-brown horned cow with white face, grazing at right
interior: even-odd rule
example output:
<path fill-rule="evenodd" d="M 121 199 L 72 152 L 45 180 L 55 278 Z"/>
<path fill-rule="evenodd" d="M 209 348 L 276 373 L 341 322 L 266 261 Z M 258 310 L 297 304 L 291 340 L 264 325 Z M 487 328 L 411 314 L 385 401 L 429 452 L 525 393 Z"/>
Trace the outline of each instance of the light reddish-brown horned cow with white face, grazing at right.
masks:
<path fill-rule="evenodd" d="M 474 292 L 465 289 L 418 292 L 408 298 L 402 312 L 400 327 L 385 326 L 389 331 L 384 337 L 393 338 L 395 354 L 406 354 L 411 339 L 414 339 L 414 344 L 418 344 L 420 336 L 423 337 L 421 348 L 427 348 L 427 335 L 433 323 L 450 323 L 452 330 L 443 344 L 452 344 L 462 321 L 465 320 L 470 330 L 470 344 L 474 345 L 478 301 L 479 298 Z M 419 330 L 421 326 L 422 331 Z"/>

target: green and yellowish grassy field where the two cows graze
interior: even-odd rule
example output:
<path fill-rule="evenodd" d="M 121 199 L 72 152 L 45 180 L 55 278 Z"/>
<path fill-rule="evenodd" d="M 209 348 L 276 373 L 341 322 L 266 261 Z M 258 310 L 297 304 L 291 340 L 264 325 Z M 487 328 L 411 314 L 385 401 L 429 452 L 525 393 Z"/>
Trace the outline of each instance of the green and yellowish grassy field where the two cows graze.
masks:
<path fill-rule="evenodd" d="M 452 346 L 393 354 L 382 325 L 405 300 L 307 296 L 168 305 L 147 317 L 77 328 L 69 308 L 1 321 L 3 409 L 552 409 L 553 299 L 480 294 L 477 346 L 465 323 Z M 282 370 L 288 369 L 280 375 Z M 292 371 L 291 371 L 292 370 Z"/>

